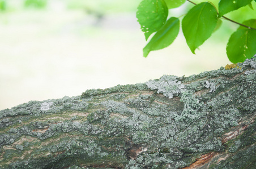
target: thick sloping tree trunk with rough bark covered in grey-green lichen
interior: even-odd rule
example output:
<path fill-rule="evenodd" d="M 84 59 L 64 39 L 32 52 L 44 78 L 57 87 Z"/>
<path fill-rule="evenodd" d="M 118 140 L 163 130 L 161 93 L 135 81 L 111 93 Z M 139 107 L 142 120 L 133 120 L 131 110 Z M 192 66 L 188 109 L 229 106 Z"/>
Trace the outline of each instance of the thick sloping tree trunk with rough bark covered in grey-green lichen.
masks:
<path fill-rule="evenodd" d="M 256 58 L 0 111 L 0 168 L 256 168 Z"/>

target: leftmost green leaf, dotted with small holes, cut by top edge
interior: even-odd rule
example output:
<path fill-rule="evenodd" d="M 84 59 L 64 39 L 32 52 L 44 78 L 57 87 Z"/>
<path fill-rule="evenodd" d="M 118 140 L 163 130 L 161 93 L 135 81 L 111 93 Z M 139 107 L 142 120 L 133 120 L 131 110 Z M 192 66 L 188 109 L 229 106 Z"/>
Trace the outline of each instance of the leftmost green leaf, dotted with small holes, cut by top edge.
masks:
<path fill-rule="evenodd" d="M 138 6 L 136 17 L 146 40 L 165 24 L 168 7 L 164 0 L 143 0 Z"/>

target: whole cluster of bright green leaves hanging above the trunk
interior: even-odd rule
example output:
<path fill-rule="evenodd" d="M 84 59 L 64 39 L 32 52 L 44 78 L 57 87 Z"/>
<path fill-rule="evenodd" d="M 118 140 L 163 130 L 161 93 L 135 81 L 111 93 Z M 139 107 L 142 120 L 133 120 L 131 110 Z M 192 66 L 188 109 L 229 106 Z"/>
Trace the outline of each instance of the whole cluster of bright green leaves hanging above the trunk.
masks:
<path fill-rule="evenodd" d="M 256 19 L 245 20 L 242 24 L 228 19 L 224 15 L 249 6 L 253 11 L 252 3 L 256 0 L 220 0 L 218 8 L 212 2 L 202 2 L 191 8 L 182 19 L 169 17 L 169 9 L 177 8 L 186 0 L 142 0 L 138 6 L 136 17 L 146 37 L 146 41 L 152 33 L 155 33 L 146 47 L 143 55 L 147 57 L 151 51 L 160 50 L 172 44 L 176 39 L 180 25 L 186 38 L 186 43 L 191 52 L 202 45 L 219 29 L 221 19 L 232 21 L 240 25 L 236 32 L 229 38 L 227 44 L 227 56 L 232 63 L 238 63 L 250 59 L 256 54 Z"/>

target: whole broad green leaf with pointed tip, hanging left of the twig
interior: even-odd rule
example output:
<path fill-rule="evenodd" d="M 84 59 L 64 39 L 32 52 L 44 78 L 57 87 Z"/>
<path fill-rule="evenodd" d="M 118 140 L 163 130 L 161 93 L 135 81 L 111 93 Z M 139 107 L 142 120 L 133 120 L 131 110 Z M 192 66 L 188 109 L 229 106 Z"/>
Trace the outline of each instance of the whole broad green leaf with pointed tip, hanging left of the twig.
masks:
<path fill-rule="evenodd" d="M 209 2 L 191 8 L 182 20 L 182 31 L 191 52 L 206 41 L 217 25 L 217 11 Z"/>

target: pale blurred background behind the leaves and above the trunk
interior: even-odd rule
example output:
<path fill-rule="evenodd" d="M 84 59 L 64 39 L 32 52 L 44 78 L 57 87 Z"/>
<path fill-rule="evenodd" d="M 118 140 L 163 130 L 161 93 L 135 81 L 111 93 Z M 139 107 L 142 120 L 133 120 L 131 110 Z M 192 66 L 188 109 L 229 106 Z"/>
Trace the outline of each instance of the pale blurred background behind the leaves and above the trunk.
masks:
<path fill-rule="evenodd" d="M 0 110 L 30 100 L 76 96 L 90 88 L 146 82 L 163 74 L 189 76 L 230 64 L 225 47 L 238 26 L 229 21 L 223 21 L 197 55 L 180 32 L 170 47 L 145 59 L 146 41 L 136 22 L 139 3 L 0 0 Z M 191 7 L 186 2 L 170 14 L 181 16 Z M 227 16 L 242 21 L 255 18 L 253 12 L 244 7 Z"/>

